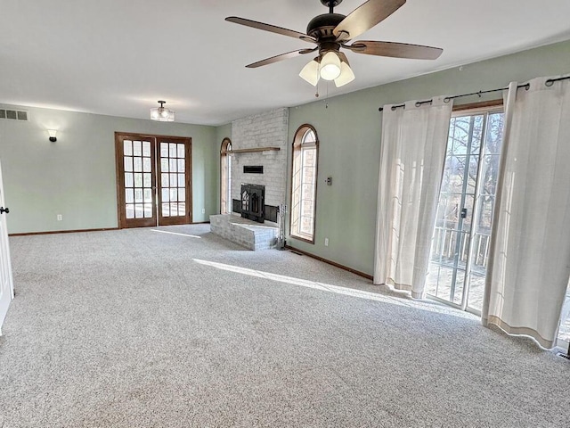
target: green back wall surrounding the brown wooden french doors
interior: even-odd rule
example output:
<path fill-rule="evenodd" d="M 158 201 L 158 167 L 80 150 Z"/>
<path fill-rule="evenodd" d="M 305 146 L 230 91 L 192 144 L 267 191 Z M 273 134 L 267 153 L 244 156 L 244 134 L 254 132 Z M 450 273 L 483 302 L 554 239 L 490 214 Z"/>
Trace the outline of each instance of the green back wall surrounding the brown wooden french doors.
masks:
<path fill-rule="evenodd" d="M 117 227 L 116 131 L 190 136 L 192 219 L 208 221 L 216 213 L 215 127 L 25 106 L 0 108 L 29 111 L 29 121 L 0 120 L 10 234 Z M 48 141 L 47 129 L 58 129 L 56 143 Z M 57 221 L 58 214 L 62 221 Z"/>

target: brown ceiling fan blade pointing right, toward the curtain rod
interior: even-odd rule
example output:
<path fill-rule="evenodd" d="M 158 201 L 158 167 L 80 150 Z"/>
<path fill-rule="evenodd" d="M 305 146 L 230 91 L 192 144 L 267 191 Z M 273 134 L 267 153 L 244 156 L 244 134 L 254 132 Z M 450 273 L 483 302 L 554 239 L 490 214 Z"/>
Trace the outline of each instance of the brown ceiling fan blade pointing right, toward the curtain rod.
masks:
<path fill-rule="evenodd" d="M 444 50 L 439 47 L 409 45 L 407 43 L 377 42 L 358 40 L 352 45 L 343 45 L 354 53 L 367 55 L 391 56 L 393 58 L 410 58 L 413 60 L 436 60 Z"/>

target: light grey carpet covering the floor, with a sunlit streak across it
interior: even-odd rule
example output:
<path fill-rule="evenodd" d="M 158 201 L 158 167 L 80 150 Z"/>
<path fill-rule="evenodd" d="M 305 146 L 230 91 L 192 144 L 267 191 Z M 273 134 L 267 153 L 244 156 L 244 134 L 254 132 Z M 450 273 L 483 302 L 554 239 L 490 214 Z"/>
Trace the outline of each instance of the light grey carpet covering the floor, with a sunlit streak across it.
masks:
<path fill-rule="evenodd" d="M 1 427 L 568 426 L 570 364 L 530 342 L 208 225 L 159 230 L 10 239 Z"/>

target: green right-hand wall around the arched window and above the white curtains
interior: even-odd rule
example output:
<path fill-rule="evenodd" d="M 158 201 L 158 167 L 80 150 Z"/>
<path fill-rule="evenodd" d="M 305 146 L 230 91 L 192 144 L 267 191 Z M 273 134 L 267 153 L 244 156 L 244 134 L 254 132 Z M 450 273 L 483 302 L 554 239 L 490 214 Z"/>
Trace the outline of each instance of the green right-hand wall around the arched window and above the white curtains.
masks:
<path fill-rule="evenodd" d="M 358 78 L 358 70 L 354 70 Z M 381 73 L 379 69 L 379 73 Z M 425 100 L 494 89 L 538 76 L 570 73 L 570 41 L 376 86 L 289 110 L 289 142 L 297 128 L 316 128 L 319 146 L 314 245 L 288 237 L 287 243 L 371 275 L 376 233 L 381 119 L 387 103 Z M 307 88 L 307 90 L 309 90 Z M 324 91 L 323 91 L 324 92 Z M 500 97 L 496 93 L 494 97 Z M 476 96 L 459 103 L 480 101 Z M 327 107 L 328 105 L 328 107 Z M 289 146 L 290 180 L 290 146 Z M 332 185 L 326 185 L 332 177 Z M 288 182 L 290 194 L 290 182 Z M 329 238 L 329 246 L 324 239 Z"/>

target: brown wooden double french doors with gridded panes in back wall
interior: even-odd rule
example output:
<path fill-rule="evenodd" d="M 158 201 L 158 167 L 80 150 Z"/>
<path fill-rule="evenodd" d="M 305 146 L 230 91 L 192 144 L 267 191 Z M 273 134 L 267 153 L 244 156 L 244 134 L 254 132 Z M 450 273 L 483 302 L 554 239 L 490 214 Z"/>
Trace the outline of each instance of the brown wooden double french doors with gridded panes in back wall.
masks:
<path fill-rule="evenodd" d="M 191 139 L 115 134 L 118 226 L 191 223 Z"/>

